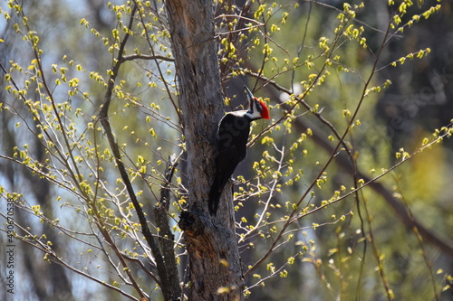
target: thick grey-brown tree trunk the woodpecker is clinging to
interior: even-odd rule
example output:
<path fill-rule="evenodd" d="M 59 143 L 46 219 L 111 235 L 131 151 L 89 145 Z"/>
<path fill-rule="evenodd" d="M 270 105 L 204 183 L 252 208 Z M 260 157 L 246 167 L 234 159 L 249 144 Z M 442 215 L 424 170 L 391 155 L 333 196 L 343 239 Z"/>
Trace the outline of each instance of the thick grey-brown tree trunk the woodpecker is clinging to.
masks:
<path fill-rule="evenodd" d="M 241 300 L 244 279 L 237 249 L 231 189 L 216 216 L 207 211 L 215 172 L 217 124 L 223 116 L 210 0 L 167 0 L 180 108 L 187 147 L 188 211 L 180 217 L 189 260 L 190 300 Z"/>

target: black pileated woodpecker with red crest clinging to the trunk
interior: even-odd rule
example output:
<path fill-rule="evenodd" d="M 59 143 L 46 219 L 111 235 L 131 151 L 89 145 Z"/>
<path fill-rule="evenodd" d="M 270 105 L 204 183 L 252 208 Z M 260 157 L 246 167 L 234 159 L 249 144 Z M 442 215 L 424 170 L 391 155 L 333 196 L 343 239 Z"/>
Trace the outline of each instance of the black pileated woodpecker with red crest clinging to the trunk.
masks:
<path fill-rule="evenodd" d="M 250 123 L 253 120 L 269 119 L 269 110 L 265 103 L 256 99 L 252 92 L 246 89 L 248 110 L 227 113 L 219 122 L 217 129 L 217 169 L 214 182 L 209 192 L 209 212 L 216 215 L 220 194 L 236 166 L 246 158 L 246 144 L 250 133 Z"/>

